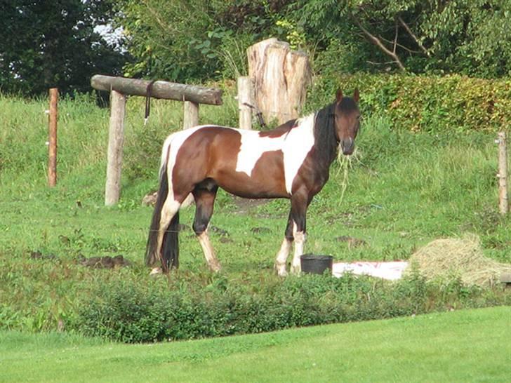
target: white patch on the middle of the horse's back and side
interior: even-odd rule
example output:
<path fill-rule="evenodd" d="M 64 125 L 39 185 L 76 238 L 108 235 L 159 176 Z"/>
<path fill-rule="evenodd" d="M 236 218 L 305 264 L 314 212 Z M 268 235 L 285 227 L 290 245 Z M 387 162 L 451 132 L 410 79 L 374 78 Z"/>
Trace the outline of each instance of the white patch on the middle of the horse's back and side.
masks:
<path fill-rule="evenodd" d="M 260 137 L 258 131 L 239 130 L 241 134 L 241 147 L 239 148 L 236 171 L 252 175 L 255 163 L 265 152 L 281 150 L 284 136 Z"/>

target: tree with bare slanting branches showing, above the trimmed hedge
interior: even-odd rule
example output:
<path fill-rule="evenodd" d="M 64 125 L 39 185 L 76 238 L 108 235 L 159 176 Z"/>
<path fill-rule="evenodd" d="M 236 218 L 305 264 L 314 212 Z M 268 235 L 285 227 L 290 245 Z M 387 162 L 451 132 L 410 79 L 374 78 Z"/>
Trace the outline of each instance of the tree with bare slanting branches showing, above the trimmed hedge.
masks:
<path fill-rule="evenodd" d="M 340 43 L 359 60 L 347 70 L 511 73 L 510 0 L 300 0 L 308 41 Z M 369 48 L 370 43 L 372 48 Z M 336 53 L 333 53 L 336 55 Z M 343 62 L 343 60 L 340 60 Z"/>

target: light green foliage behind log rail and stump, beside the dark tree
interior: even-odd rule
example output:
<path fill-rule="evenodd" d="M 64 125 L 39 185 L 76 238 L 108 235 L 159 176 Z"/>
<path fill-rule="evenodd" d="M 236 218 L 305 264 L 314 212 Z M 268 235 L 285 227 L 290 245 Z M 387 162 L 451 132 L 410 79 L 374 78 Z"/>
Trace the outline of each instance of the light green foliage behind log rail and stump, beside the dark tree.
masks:
<path fill-rule="evenodd" d="M 271 35 L 291 0 L 125 0 L 117 19 L 137 59 L 128 76 L 203 81 L 246 74 L 246 48 Z"/>

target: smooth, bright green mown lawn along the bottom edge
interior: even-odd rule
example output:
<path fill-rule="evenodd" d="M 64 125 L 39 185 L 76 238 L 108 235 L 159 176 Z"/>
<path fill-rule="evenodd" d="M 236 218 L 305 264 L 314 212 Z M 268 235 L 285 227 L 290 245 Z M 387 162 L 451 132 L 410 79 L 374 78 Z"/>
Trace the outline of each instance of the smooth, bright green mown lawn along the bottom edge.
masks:
<path fill-rule="evenodd" d="M 506 382 L 511 307 L 167 344 L 0 332 L 0 382 Z"/>

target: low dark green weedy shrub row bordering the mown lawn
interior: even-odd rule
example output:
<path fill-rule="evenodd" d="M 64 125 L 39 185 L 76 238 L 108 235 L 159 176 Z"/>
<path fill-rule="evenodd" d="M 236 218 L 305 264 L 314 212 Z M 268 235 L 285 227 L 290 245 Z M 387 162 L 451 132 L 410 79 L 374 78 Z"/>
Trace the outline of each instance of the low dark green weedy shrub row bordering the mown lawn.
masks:
<path fill-rule="evenodd" d="M 131 280 L 100 285 L 81 304 L 75 330 L 121 342 L 187 340 L 305 325 L 421 314 L 511 302 L 498 290 L 444 285 L 412 276 L 396 284 L 371 278 L 288 277 L 248 291 L 222 276 L 205 288 Z"/>

